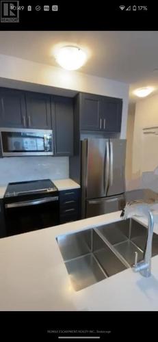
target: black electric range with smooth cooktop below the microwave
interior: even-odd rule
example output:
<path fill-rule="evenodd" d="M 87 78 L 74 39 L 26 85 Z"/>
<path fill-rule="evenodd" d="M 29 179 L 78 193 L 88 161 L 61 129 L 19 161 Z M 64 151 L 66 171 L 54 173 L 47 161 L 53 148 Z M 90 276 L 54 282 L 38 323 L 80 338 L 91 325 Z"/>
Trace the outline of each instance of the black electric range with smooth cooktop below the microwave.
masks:
<path fill-rule="evenodd" d="M 59 224 L 59 196 L 50 179 L 9 183 L 4 196 L 7 235 Z"/>

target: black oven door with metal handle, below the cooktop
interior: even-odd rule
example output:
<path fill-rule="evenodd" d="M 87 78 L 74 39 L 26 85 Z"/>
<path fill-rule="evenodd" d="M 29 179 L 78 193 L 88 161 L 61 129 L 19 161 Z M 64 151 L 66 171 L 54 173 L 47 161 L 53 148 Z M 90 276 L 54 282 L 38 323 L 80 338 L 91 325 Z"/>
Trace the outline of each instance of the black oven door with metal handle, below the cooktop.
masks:
<path fill-rule="evenodd" d="M 56 226 L 59 212 L 58 196 L 5 203 L 7 236 Z"/>

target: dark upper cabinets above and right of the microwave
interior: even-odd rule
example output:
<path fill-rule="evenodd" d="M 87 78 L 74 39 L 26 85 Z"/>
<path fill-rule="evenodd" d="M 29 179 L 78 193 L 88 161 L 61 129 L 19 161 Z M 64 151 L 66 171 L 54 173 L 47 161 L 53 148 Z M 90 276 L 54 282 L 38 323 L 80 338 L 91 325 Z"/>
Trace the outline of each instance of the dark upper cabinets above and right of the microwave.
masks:
<path fill-rule="evenodd" d="M 0 127 L 53 129 L 54 155 L 73 155 L 73 98 L 0 88 Z"/>

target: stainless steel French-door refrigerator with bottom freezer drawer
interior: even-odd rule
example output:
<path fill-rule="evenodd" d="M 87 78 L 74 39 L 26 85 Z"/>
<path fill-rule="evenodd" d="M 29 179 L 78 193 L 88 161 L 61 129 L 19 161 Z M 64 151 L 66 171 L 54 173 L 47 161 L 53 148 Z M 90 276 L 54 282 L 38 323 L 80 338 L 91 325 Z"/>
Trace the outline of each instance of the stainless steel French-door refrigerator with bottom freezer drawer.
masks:
<path fill-rule="evenodd" d="M 81 214 L 89 218 L 124 206 L 126 140 L 81 142 Z"/>

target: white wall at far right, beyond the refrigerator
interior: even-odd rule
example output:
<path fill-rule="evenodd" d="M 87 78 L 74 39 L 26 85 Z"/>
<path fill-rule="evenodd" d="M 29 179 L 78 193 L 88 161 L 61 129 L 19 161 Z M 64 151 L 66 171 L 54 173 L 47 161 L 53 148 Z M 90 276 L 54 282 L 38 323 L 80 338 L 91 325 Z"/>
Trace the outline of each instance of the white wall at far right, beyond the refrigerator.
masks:
<path fill-rule="evenodd" d="M 158 192 L 158 135 L 144 134 L 146 127 L 158 127 L 158 95 L 136 103 L 131 184 Z"/>

